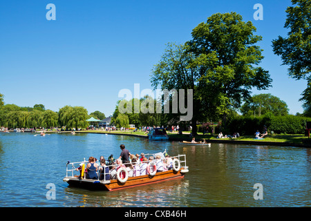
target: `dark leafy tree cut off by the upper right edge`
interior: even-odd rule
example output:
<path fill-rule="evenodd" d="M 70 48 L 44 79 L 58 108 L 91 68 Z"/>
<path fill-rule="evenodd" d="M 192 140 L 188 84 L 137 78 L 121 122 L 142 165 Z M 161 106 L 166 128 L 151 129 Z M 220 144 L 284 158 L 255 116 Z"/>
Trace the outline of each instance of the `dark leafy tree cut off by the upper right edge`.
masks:
<path fill-rule="evenodd" d="M 308 113 L 311 105 L 311 1 L 292 0 L 288 7 L 284 28 L 288 37 L 279 36 L 272 41 L 273 51 L 281 56 L 283 65 L 289 66 L 288 74 L 294 79 L 307 79 L 308 86 L 300 101 Z"/>

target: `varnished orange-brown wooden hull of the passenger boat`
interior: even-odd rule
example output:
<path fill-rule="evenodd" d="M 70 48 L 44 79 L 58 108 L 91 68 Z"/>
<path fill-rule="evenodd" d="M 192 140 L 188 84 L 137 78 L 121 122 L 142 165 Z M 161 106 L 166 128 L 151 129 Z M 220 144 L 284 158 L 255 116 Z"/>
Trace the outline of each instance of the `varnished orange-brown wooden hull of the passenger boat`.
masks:
<path fill-rule="evenodd" d="M 88 179 L 79 179 L 79 177 L 64 177 L 69 186 L 77 186 L 84 189 L 93 189 L 93 190 L 104 190 L 104 191 L 115 191 L 118 189 L 124 189 L 134 186 L 140 186 L 145 184 L 151 184 L 155 182 L 163 182 L 166 180 L 172 180 L 176 178 L 184 177 L 186 172 L 183 168 L 180 171 L 163 171 L 158 172 L 154 176 L 150 175 L 140 175 L 138 177 L 129 177 L 125 183 L 121 183 L 118 180 L 109 180 L 109 181 L 100 181 L 100 180 L 88 180 Z"/>

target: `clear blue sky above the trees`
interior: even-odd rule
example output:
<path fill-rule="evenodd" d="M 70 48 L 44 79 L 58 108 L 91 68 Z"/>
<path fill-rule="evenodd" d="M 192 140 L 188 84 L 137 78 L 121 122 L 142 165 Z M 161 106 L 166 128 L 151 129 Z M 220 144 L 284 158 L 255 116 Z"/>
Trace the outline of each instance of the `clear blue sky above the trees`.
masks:
<path fill-rule="evenodd" d="M 56 20 L 46 19 L 46 5 L 56 6 Z M 255 21 L 255 3 L 263 5 L 263 21 Z M 113 113 L 121 89 L 151 88 L 153 65 L 165 44 L 183 44 L 191 30 L 217 12 L 238 12 L 252 21 L 261 66 L 273 79 L 271 93 L 302 113 L 306 81 L 288 77 L 286 66 L 272 52 L 272 39 L 285 37 L 285 10 L 290 0 L 218 1 L 72 1 L 0 2 L 0 93 L 6 104 L 44 104 L 58 111 L 65 105 L 84 106 L 88 113 Z"/>

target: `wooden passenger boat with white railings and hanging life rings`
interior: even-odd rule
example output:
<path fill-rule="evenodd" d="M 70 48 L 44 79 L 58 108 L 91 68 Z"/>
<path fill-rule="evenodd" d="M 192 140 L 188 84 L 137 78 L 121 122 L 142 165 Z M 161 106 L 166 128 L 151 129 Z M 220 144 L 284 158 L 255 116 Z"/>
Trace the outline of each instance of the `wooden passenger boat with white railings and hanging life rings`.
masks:
<path fill-rule="evenodd" d="M 166 151 L 164 151 L 164 153 L 166 153 Z M 145 157 L 152 155 L 156 158 L 157 155 L 160 155 L 160 160 L 164 161 L 164 153 L 145 154 Z M 85 168 L 88 162 L 86 162 L 85 158 L 82 162 L 68 161 L 66 164 L 66 177 L 64 177 L 63 181 L 67 182 L 69 186 L 76 186 L 84 189 L 115 191 L 184 177 L 184 175 L 189 172 L 188 166 L 186 166 L 186 155 L 176 155 L 175 157 L 171 157 L 171 159 L 171 168 L 164 169 L 164 171 L 157 171 L 156 161 L 140 162 L 141 165 L 142 163 L 147 164 L 146 174 L 132 177 L 129 176 L 129 172 L 125 168 L 121 167 L 116 171 L 115 180 L 111 180 L 110 178 L 112 177 L 111 171 L 113 171 L 113 166 L 117 168 L 117 166 L 119 166 L 117 164 L 106 166 L 109 170 L 105 167 L 103 173 L 98 174 L 97 172 L 97 180 L 91 180 L 86 178 Z M 75 175 L 75 173 L 77 173 L 76 166 L 79 166 L 79 169 L 81 169 L 80 175 Z"/>

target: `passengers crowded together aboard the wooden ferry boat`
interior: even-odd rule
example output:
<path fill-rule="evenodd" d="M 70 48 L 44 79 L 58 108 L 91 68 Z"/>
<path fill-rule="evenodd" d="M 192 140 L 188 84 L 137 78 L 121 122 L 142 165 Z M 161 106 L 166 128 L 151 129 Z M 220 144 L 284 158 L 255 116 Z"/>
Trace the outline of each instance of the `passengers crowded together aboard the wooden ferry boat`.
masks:
<path fill-rule="evenodd" d="M 164 159 L 160 155 L 156 155 L 156 157 L 150 156 L 147 159 L 144 153 L 140 155 L 131 154 L 129 150 L 125 148 L 124 144 L 121 144 L 120 148 L 120 157 L 114 159 L 113 155 L 110 155 L 106 161 L 104 157 L 101 156 L 99 160 L 100 164 L 97 164 L 97 159 L 95 157 L 89 157 L 88 164 L 86 164 L 84 171 L 84 173 L 86 173 L 86 178 L 92 180 L 115 180 L 117 179 L 117 171 L 122 168 L 126 169 L 129 177 L 148 175 L 150 173 L 148 167 L 149 162 L 154 162 L 157 173 L 173 169 L 173 159 L 167 154 Z M 83 165 L 84 163 L 81 163 L 76 169 L 80 171 L 80 177 Z M 120 177 L 123 179 L 124 176 L 125 173 L 121 172 Z"/>

